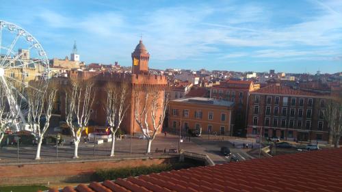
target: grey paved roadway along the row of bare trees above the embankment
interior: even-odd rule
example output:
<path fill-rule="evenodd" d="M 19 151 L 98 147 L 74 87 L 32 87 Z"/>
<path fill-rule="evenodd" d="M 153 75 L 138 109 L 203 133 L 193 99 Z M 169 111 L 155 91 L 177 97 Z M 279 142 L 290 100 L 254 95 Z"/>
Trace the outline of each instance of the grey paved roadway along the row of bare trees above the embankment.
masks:
<path fill-rule="evenodd" d="M 42 146 L 40 152 L 40 161 L 70 161 L 74 154 L 73 145 L 70 145 L 70 137 L 64 136 L 66 143 L 64 146 L 58 146 L 58 152 L 56 147 L 53 145 Z M 241 140 L 243 142 L 244 140 Z M 184 141 L 181 143 L 181 149 L 196 152 L 199 154 L 208 154 L 214 163 L 226 163 L 228 159 L 220 154 L 220 147 L 228 146 L 231 148 L 231 152 L 237 156 L 239 161 L 251 159 L 246 153 L 246 150 L 242 149 L 239 144 L 240 141 L 234 140 L 235 148 L 232 147 L 231 141 L 220 140 L 212 137 L 196 137 L 192 138 L 191 141 Z M 147 141 L 144 139 L 127 138 L 116 141 L 115 154 L 117 158 L 129 157 L 129 156 L 144 156 L 146 152 Z M 151 152 L 158 150 L 168 151 L 171 148 L 178 149 L 179 137 L 178 135 L 168 134 L 165 137 L 163 134 L 157 135 L 152 143 Z M 109 158 L 111 149 L 111 143 L 103 143 L 95 145 L 94 143 L 80 143 L 79 144 L 79 157 L 80 159 L 106 159 Z M 57 156 L 56 156 L 57 154 Z M 95 154 L 95 156 L 94 156 Z M 31 162 L 36 156 L 36 146 L 19 146 L 19 160 L 17 159 L 17 148 L 16 146 L 5 146 L 0 150 L 0 163 L 11 163 L 11 162 Z"/>

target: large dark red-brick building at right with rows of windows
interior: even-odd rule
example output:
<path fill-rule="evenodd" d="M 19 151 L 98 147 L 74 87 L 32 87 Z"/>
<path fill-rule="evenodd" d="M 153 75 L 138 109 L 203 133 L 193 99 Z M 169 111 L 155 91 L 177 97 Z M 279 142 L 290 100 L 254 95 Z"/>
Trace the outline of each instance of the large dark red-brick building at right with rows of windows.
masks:
<path fill-rule="evenodd" d="M 326 142 L 329 131 L 322 110 L 327 98 L 277 84 L 251 92 L 247 137 Z"/>

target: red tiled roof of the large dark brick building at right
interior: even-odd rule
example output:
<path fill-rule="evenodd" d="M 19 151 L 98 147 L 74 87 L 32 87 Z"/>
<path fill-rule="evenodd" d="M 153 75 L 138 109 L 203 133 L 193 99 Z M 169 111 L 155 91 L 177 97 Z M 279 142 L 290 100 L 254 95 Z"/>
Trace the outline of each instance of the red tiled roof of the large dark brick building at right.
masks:
<path fill-rule="evenodd" d="M 292 87 L 285 85 L 269 85 L 256 90 L 253 93 L 261 94 L 284 94 L 284 95 L 301 95 L 301 96 L 324 96 L 323 94 L 317 94 L 315 92 L 307 92 L 300 89 L 293 89 Z"/>

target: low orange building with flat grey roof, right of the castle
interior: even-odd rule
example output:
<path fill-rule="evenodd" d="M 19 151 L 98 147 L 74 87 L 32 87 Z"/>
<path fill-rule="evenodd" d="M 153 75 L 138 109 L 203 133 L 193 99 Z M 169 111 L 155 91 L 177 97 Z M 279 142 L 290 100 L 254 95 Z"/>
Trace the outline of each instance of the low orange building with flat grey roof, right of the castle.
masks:
<path fill-rule="evenodd" d="M 169 103 L 168 127 L 231 135 L 233 102 L 213 98 L 181 98 Z"/>

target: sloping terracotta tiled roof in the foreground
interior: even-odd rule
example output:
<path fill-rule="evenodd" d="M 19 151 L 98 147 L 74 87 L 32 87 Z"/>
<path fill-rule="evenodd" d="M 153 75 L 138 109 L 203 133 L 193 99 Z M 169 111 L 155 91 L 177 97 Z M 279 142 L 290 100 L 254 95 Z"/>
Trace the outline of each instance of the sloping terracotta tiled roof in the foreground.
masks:
<path fill-rule="evenodd" d="M 342 148 L 92 182 L 62 191 L 342 191 Z"/>

